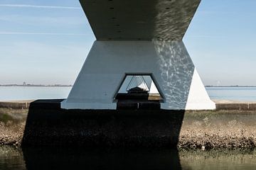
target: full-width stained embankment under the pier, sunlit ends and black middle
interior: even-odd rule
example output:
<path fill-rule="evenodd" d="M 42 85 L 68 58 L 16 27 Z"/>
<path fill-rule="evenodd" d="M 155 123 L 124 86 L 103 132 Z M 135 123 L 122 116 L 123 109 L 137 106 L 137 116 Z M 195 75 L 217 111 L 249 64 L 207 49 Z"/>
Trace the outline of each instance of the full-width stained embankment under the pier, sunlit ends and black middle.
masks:
<path fill-rule="evenodd" d="M 58 102 L 0 108 L 0 144 L 256 147 L 256 111 L 67 111 Z"/>

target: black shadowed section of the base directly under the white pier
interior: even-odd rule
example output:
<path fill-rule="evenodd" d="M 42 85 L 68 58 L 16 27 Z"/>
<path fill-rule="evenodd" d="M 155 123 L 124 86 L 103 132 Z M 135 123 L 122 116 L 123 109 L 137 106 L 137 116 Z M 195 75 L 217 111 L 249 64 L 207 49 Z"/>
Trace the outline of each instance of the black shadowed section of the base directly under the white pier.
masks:
<path fill-rule="evenodd" d="M 62 100 L 31 103 L 22 145 L 176 147 L 184 111 L 63 110 Z"/>

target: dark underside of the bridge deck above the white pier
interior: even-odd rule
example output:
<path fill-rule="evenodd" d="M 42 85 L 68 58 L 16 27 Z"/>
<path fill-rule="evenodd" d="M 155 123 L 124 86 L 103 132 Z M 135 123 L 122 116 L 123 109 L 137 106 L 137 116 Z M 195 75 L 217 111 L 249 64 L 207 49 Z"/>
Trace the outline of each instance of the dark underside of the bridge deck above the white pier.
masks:
<path fill-rule="evenodd" d="M 201 0 L 80 0 L 97 40 L 182 40 Z"/>

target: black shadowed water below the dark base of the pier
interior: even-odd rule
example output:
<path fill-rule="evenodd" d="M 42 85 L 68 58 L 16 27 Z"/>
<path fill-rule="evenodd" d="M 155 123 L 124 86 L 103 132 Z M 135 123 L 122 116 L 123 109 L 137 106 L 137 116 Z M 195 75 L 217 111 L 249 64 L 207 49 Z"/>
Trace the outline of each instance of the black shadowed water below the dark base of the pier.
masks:
<path fill-rule="evenodd" d="M 27 169 L 181 169 L 175 149 L 23 148 Z"/>

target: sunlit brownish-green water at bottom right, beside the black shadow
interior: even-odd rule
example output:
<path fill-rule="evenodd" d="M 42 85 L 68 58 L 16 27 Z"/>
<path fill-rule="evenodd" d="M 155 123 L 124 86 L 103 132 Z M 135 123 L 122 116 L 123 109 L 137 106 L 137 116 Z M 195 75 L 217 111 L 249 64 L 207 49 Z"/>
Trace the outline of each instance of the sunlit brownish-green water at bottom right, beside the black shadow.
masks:
<path fill-rule="evenodd" d="M 182 169 L 256 169 L 255 149 L 180 151 Z"/>

